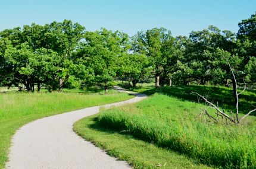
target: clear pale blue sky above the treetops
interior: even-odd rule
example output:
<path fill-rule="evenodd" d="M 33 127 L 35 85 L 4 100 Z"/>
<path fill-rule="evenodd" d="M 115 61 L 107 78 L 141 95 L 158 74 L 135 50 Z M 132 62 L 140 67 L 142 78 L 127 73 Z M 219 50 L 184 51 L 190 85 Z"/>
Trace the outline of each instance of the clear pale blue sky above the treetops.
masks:
<path fill-rule="evenodd" d="M 132 36 L 139 30 L 164 27 L 173 36 L 216 25 L 238 31 L 238 23 L 256 11 L 256 0 L 2 0 L 0 30 L 64 19 L 86 30 L 105 27 Z"/>

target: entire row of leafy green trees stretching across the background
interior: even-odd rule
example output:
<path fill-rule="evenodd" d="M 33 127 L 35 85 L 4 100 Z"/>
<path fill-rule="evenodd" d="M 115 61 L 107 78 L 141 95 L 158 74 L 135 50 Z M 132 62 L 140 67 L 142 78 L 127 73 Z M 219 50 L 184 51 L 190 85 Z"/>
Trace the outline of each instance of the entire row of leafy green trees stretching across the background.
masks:
<path fill-rule="evenodd" d="M 129 37 L 101 28 L 86 31 L 70 20 L 24 25 L 0 32 L 0 85 L 49 91 L 101 84 L 114 79 L 155 86 L 226 85 L 256 82 L 256 14 L 242 20 L 238 33 L 210 25 L 189 37 L 171 36 L 165 28 Z M 234 83 L 233 83 L 234 84 Z"/>

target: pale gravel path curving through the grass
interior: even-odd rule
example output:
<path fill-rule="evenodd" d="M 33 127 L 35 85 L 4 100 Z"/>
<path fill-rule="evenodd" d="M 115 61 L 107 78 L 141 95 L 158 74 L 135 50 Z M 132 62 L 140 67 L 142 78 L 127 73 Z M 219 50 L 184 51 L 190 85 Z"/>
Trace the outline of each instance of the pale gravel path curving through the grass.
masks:
<path fill-rule="evenodd" d="M 130 93 L 120 87 L 116 90 Z M 99 108 L 135 103 L 146 95 L 104 106 L 89 107 L 35 120 L 21 127 L 12 139 L 6 168 L 130 168 L 73 132 L 73 124 L 83 117 L 99 113 Z"/>

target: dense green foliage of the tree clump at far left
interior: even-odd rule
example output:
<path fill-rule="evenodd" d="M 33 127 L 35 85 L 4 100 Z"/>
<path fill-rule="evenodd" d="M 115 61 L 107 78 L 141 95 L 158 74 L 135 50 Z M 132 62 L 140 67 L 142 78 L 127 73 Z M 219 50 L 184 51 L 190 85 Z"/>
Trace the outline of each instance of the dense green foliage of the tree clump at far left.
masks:
<path fill-rule="evenodd" d="M 2 75 L 0 82 L 8 87 L 23 84 L 27 91 L 34 91 L 35 83 L 38 91 L 40 84 L 56 90 L 59 79 L 77 85 L 81 76 L 75 77 L 76 73 L 71 71 L 77 67 L 72 62 L 72 53 L 83 31 L 81 25 L 68 20 L 1 31 L 1 72 L 8 71 L 8 74 Z"/>

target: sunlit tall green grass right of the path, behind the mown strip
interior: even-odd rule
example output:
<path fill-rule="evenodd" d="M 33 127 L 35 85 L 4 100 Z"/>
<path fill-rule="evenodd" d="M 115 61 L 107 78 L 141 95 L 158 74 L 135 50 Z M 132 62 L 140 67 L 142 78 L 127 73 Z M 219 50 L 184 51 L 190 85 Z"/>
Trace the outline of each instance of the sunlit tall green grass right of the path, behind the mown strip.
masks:
<path fill-rule="evenodd" d="M 154 94 L 133 106 L 104 111 L 98 124 L 173 149 L 204 164 L 256 168 L 256 118 L 249 117 L 246 125 L 241 126 L 216 124 L 207 122 L 205 116 L 199 117 L 200 108 L 201 104 L 170 94 Z"/>

